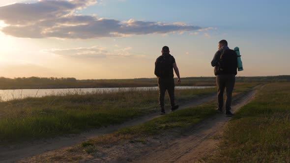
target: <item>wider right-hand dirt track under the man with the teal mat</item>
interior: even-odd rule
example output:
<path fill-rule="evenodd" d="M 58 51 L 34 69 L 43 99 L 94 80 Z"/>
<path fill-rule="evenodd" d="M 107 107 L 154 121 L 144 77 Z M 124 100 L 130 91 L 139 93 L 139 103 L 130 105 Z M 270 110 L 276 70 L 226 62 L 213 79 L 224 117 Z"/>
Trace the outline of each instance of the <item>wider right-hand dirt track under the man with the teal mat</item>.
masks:
<path fill-rule="evenodd" d="M 235 112 L 249 103 L 257 90 L 247 93 L 239 100 L 234 101 L 232 111 Z M 183 132 L 182 136 L 165 137 L 166 141 L 158 146 L 148 147 L 142 153 L 128 155 L 134 163 L 200 163 L 208 154 L 215 153 L 220 141 L 220 134 L 230 117 L 224 114 L 215 116 L 200 122 L 198 125 Z M 116 162 L 124 162 L 119 158 Z"/>

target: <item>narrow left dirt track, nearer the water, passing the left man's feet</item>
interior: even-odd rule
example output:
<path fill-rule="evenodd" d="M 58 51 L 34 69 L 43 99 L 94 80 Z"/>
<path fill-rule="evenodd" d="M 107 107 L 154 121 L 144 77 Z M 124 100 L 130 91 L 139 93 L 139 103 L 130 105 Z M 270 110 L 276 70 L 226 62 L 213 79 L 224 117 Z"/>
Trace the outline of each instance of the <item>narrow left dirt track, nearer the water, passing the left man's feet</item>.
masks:
<path fill-rule="evenodd" d="M 180 109 L 198 106 L 205 102 L 213 100 L 214 98 L 215 98 L 215 95 L 208 95 L 200 99 L 193 100 L 189 103 L 183 104 L 180 106 Z M 170 110 L 166 110 L 166 111 L 169 112 Z M 9 146 L 0 146 L 0 163 L 16 162 L 17 160 L 22 159 L 22 158 L 32 157 L 41 153 L 45 153 L 47 151 L 52 151 L 52 150 L 60 149 L 63 147 L 71 146 L 71 145 L 86 141 L 87 139 L 90 139 L 96 136 L 102 136 L 102 135 L 113 133 L 121 128 L 142 124 L 158 116 L 160 116 L 159 112 L 156 112 L 156 113 L 145 115 L 140 118 L 130 120 L 120 125 L 114 125 L 114 126 L 109 126 L 106 128 L 95 129 L 95 130 L 91 130 L 89 132 L 82 133 L 82 134 L 66 135 L 66 136 L 60 136 L 56 138 L 36 140 L 33 142 L 25 142 L 25 143 L 9 145 Z"/>

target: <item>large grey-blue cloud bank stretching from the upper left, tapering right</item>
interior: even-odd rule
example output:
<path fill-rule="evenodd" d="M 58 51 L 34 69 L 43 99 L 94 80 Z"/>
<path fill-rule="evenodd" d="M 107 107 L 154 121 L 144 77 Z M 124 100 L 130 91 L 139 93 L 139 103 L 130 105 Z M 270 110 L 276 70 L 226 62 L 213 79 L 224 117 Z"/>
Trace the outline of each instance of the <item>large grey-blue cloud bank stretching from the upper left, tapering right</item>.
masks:
<path fill-rule="evenodd" d="M 0 20 L 6 26 L 0 30 L 24 38 L 92 39 L 211 29 L 178 22 L 119 21 L 76 14 L 77 10 L 95 3 L 96 0 L 40 0 L 2 6 Z"/>

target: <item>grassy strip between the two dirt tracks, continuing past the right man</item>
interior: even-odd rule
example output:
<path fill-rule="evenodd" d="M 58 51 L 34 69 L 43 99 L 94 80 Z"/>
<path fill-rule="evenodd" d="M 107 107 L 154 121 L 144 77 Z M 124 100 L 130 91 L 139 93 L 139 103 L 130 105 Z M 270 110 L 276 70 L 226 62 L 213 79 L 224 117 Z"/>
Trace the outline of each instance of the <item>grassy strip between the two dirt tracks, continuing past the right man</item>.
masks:
<path fill-rule="evenodd" d="M 257 85 L 257 83 L 237 83 L 234 90 L 234 98 L 242 95 L 239 93 L 245 93 L 249 90 L 253 90 L 255 85 Z M 177 129 L 178 131 L 180 131 L 180 129 L 181 131 L 184 129 L 186 130 L 188 127 L 191 127 L 203 119 L 216 114 L 216 111 L 214 110 L 215 107 L 216 102 L 209 101 L 208 103 L 197 107 L 177 110 L 173 113 L 154 118 L 142 125 L 120 129 L 109 135 L 98 136 L 94 139 L 84 141 L 81 144 L 76 144 L 70 148 L 55 151 L 52 155 L 44 154 L 33 157 L 29 161 L 67 162 L 69 160 L 69 162 L 79 162 L 84 158 L 96 157 L 95 159 L 99 159 L 100 153 L 98 150 L 101 147 L 110 148 L 112 145 L 118 146 L 123 143 L 126 144 L 126 142 L 146 143 L 148 137 L 154 138 L 159 134 L 170 132 L 171 129 Z"/>

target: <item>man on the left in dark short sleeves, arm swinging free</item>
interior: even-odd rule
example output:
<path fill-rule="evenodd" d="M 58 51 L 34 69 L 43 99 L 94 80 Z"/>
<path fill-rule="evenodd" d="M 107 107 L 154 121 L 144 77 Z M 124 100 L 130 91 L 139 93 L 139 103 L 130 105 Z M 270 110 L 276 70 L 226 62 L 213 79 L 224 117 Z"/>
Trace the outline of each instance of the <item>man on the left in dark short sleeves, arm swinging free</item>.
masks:
<path fill-rule="evenodd" d="M 164 109 L 164 96 L 166 90 L 168 91 L 171 111 L 178 109 L 178 105 L 175 105 L 174 102 L 174 74 L 178 78 L 177 83 L 180 83 L 179 70 L 177 68 L 174 57 L 169 54 L 169 48 L 164 46 L 162 48 L 162 55 L 160 55 L 155 61 L 155 71 L 154 74 L 158 78 L 158 87 L 159 87 L 159 105 L 161 107 L 161 114 L 165 114 Z"/>

